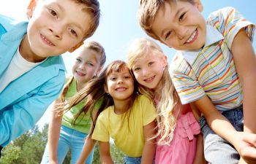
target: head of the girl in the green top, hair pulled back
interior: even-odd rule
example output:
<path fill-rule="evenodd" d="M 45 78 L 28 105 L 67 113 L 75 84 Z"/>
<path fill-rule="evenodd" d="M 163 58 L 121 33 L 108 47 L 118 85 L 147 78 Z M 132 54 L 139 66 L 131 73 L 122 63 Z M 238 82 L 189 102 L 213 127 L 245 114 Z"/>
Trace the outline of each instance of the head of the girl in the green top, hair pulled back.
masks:
<path fill-rule="evenodd" d="M 99 74 L 105 61 L 105 50 L 98 42 L 86 42 L 75 50 L 72 74 L 78 83 L 88 82 Z"/>

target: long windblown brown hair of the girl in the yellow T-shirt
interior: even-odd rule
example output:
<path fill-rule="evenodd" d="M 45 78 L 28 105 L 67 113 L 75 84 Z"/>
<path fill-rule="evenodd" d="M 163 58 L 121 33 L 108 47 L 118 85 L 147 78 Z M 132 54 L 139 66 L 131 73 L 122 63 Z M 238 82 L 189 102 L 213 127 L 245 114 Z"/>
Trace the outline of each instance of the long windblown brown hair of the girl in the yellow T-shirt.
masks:
<path fill-rule="evenodd" d="M 66 106 L 66 109 L 69 110 L 72 108 L 72 106 L 75 106 L 80 103 L 80 101 L 83 101 L 86 98 L 86 105 L 83 107 L 83 109 L 78 112 L 77 117 L 81 113 L 86 113 L 90 112 L 91 114 L 91 120 L 92 120 L 92 128 L 89 133 L 89 136 L 92 135 L 94 131 L 94 127 L 96 125 L 96 120 L 99 114 L 108 106 L 113 106 L 113 98 L 108 94 L 105 93 L 104 86 L 106 85 L 107 78 L 112 72 L 119 72 L 124 70 L 125 68 L 128 69 L 127 64 L 124 61 L 121 60 L 115 60 L 112 63 L 110 63 L 103 71 L 101 74 L 99 74 L 99 77 L 92 79 L 91 81 L 88 82 L 86 87 L 84 87 L 80 92 L 72 98 L 71 101 Z M 131 97 L 129 98 L 129 103 L 127 106 L 124 106 L 125 110 L 129 110 L 132 108 L 132 105 L 137 98 L 138 91 L 137 91 L 137 83 L 136 80 L 134 80 L 134 85 L 135 85 L 135 90 L 133 91 Z M 93 116 L 94 108 L 96 108 L 97 104 L 100 103 L 99 109 L 97 109 L 97 114 Z M 124 116 L 128 117 L 129 120 L 129 112 Z M 76 117 L 76 118 L 77 118 Z"/>

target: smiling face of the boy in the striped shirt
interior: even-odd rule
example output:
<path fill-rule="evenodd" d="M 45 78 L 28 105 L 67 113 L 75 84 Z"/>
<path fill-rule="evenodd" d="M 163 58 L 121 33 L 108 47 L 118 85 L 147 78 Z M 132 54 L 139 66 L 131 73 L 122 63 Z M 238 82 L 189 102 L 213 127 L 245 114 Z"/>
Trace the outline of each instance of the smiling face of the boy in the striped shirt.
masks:
<path fill-rule="evenodd" d="M 159 8 L 152 31 L 160 42 L 176 50 L 199 50 L 206 40 L 206 20 L 199 0 L 177 1 Z"/>

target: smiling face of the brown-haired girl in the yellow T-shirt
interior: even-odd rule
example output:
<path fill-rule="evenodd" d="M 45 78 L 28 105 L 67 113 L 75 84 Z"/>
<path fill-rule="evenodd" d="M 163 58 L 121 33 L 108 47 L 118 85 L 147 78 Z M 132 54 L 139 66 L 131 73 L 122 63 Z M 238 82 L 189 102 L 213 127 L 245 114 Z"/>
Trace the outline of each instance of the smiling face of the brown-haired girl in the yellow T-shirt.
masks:
<path fill-rule="evenodd" d="M 107 77 L 105 92 L 111 95 L 114 102 L 127 101 L 134 89 L 134 80 L 127 67 L 119 71 L 112 71 Z"/>

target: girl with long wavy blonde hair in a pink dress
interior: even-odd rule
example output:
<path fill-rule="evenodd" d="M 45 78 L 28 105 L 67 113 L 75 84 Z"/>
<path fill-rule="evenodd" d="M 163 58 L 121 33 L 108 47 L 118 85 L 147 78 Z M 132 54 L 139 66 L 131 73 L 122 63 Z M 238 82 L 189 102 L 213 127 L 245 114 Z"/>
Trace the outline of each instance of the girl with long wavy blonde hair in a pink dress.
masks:
<path fill-rule="evenodd" d="M 167 71 L 167 58 L 151 39 L 135 39 L 129 47 L 128 66 L 139 83 L 140 93 L 149 95 L 157 106 L 157 164 L 202 163 L 197 150 L 200 126 L 189 104 L 181 105 Z"/>

